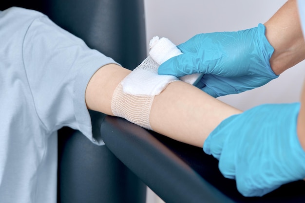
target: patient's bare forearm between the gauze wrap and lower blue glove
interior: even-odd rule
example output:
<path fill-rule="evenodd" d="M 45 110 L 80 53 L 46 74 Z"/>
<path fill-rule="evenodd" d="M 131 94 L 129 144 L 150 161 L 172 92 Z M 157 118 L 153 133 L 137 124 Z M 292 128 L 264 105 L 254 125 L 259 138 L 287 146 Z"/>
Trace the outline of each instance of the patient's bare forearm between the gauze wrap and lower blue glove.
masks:
<path fill-rule="evenodd" d="M 221 121 L 240 112 L 190 84 L 175 81 L 155 96 L 150 122 L 156 132 L 202 147 Z"/>

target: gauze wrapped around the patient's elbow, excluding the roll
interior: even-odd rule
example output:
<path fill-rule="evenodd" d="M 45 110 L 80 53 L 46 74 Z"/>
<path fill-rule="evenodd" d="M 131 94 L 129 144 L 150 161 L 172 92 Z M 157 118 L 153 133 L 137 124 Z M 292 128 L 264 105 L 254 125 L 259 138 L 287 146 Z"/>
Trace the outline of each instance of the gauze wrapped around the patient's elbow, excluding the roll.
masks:
<path fill-rule="evenodd" d="M 162 92 L 169 83 L 178 80 L 171 75 L 158 75 L 158 67 L 148 56 L 118 84 L 111 101 L 111 110 L 115 116 L 152 129 L 149 115 L 154 96 Z"/>

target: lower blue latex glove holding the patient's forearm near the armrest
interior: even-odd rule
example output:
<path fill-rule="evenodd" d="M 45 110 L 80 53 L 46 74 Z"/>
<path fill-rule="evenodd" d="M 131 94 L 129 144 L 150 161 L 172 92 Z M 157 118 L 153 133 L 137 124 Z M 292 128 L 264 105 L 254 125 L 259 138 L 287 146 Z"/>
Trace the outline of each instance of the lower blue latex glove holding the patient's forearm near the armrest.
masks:
<path fill-rule="evenodd" d="M 268 104 L 233 115 L 214 129 L 204 151 L 244 196 L 262 196 L 305 178 L 305 151 L 297 136 L 300 104 Z"/>

